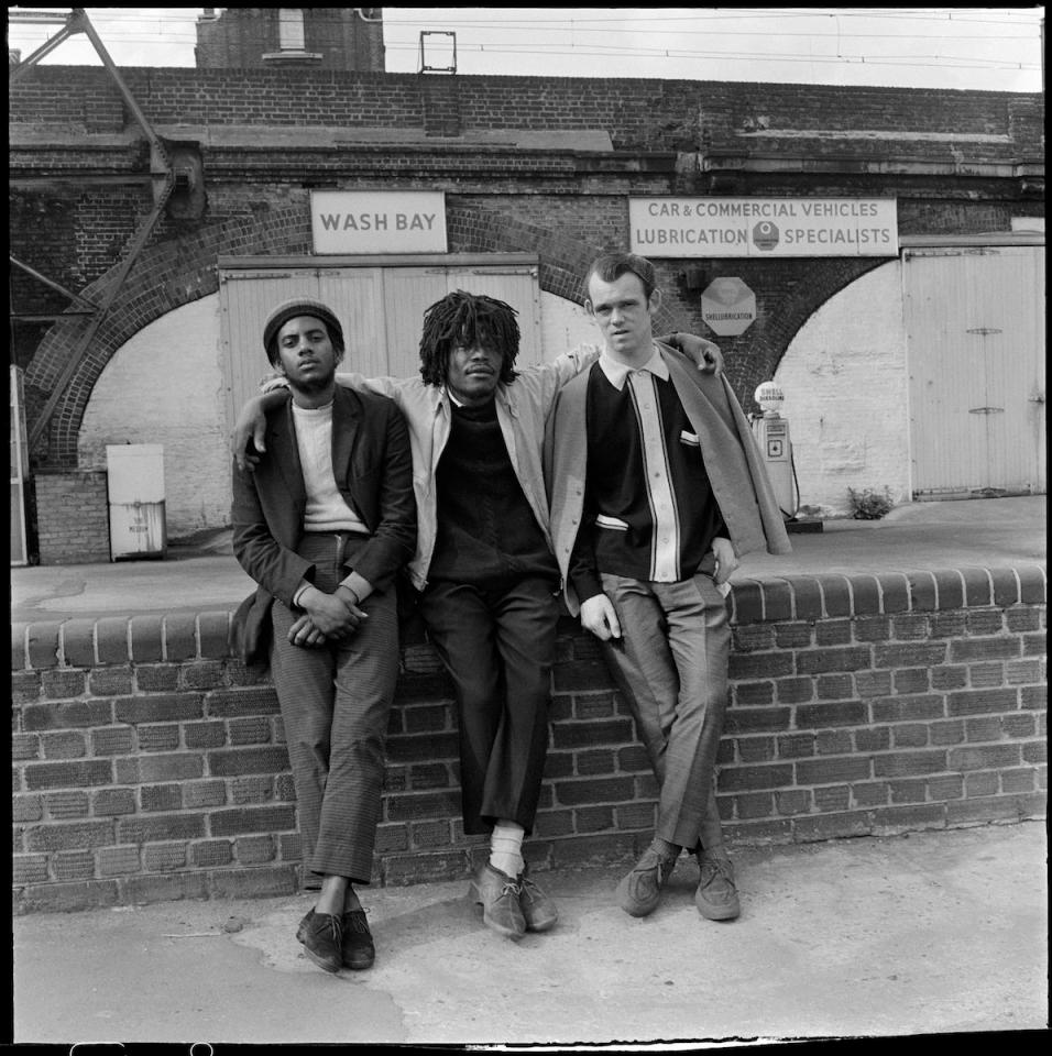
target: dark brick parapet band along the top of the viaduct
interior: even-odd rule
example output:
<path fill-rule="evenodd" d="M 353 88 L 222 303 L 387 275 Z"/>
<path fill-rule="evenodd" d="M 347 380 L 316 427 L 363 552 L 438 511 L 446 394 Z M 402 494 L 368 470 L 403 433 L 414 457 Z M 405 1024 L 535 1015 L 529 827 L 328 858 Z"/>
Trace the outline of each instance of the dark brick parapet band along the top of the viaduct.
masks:
<path fill-rule="evenodd" d="M 419 129 L 429 90 L 429 78 L 410 74 L 319 69 L 129 68 L 122 76 L 147 120 L 162 124 L 177 113 L 187 125 Z M 1042 152 L 1040 99 L 1026 94 L 640 78 L 461 80 L 471 86 L 460 100 L 465 131 L 609 129 L 621 148 L 646 144 L 683 150 L 719 146 L 732 132 L 760 138 L 779 130 L 898 132 L 908 123 L 918 133 L 935 135 L 967 130 L 988 156 L 1007 156 L 1020 145 L 1033 156 Z M 305 92 L 311 103 L 307 113 Z M 98 131 L 122 131 L 131 120 L 100 69 L 37 67 L 12 86 L 9 105 L 15 123 L 85 128 L 90 121 Z M 1024 140 L 1012 144 L 1012 136 Z M 808 147 L 822 142 L 815 136 Z M 913 154 L 950 151 L 946 142 L 920 136 L 910 148 Z"/>

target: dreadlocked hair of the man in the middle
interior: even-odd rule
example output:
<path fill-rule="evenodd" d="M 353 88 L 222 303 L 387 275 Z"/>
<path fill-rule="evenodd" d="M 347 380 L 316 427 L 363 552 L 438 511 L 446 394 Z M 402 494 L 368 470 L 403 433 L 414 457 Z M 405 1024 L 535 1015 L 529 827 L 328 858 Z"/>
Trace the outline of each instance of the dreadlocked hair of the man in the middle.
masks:
<path fill-rule="evenodd" d="M 462 289 L 435 301 L 424 312 L 420 337 L 420 377 L 425 384 L 445 385 L 450 351 L 475 345 L 500 352 L 501 381 L 505 385 L 514 382 L 518 376 L 514 370 L 519 341 L 516 315 L 503 300 Z"/>

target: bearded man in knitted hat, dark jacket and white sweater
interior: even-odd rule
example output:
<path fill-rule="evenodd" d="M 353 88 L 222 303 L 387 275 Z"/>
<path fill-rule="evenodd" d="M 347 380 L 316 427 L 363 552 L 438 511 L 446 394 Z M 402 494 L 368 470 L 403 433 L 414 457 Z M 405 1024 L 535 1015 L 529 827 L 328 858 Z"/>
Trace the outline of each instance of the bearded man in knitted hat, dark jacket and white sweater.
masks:
<path fill-rule="evenodd" d="M 281 305 L 263 344 L 292 399 L 266 415 L 254 472 L 234 465 L 233 550 L 259 583 L 234 635 L 246 659 L 270 661 L 320 883 L 296 937 L 327 971 L 363 969 L 375 950 L 353 886 L 372 876 L 398 673 L 394 579 L 416 546 L 408 433 L 390 399 L 336 384 L 343 330 L 328 306 Z M 304 620 L 319 648 L 296 640 Z"/>

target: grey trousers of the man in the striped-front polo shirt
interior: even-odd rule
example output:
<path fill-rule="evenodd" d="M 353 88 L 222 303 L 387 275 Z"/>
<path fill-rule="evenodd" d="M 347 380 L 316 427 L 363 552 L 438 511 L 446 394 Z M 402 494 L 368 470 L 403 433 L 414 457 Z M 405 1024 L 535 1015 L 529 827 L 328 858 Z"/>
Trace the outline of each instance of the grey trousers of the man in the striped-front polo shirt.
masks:
<path fill-rule="evenodd" d="M 661 789 L 656 835 L 721 851 L 715 762 L 727 706 L 731 625 L 711 576 L 655 583 L 604 572 L 622 638 L 604 642 Z"/>

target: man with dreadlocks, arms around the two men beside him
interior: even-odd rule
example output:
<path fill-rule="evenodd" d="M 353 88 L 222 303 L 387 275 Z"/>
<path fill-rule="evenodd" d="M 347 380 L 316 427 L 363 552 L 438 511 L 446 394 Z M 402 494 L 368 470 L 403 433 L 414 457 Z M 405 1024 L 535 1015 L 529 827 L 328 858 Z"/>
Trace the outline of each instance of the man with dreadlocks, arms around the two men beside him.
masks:
<path fill-rule="evenodd" d="M 559 616 L 541 459 L 556 394 L 599 356 L 585 345 L 516 371 L 515 316 L 501 300 L 458 289 L 425 314 L 420 377 L 338 375 L 340 384 L 392 397 L 409 427 L 418 509 L 409 576 L 454 686 L 464 832 L 491 837 L 470 894 L 485 924 L 511 938 L 558 920 L 523 856 L 547 752 Z M 681 343 L 702 369 L 722 365 L 710 342 L 666 340 Z M 261 448 L 257 408 L 275 398 L 284 397 L 265 395 L 242 410 L 233 439 L 239 460 L 251 460 L 250 437 Z M 297 634 L 303 645 L 325 640 L 307 617 Z"/>

